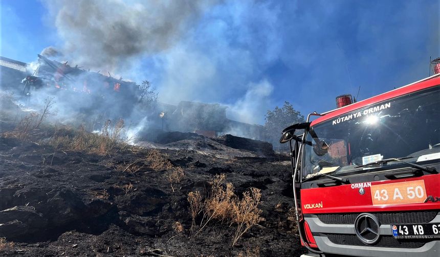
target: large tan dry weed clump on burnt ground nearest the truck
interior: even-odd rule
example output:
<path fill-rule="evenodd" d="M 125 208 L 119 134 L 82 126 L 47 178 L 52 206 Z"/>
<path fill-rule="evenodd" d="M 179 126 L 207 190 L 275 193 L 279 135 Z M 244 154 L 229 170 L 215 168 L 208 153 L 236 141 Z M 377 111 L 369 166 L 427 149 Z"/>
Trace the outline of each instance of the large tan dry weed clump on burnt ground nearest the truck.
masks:
<path fill-rule="evenodd" d="M 212 219 L 222 223 L 226 222 L 229 226 L 236 224 L 237 230 L 232 242 L 232 246 L 234 246 L 249 229 L 264 220 L 260 217 L 262 211 L 258 209 L 261 192 L 259 189 L 251 188 L 250 192 L 244 192 L 243 197 L 239 199 L 234 194 L 234 187 L 231 183 L 224 186 L 225 178 L 225 174 L 215 176 L 210 183 L 210 195 L 201 204 L 201 207 L 197 205 L 201 202 L 201 197 L 196 197 L 197 192 L 191 192 L 192 194 L 188 195 L 188 201 L 193 220 L 195 220 L 194 215 L 203 212 L 201 228 L 194 236 L 197 236 Z"/>

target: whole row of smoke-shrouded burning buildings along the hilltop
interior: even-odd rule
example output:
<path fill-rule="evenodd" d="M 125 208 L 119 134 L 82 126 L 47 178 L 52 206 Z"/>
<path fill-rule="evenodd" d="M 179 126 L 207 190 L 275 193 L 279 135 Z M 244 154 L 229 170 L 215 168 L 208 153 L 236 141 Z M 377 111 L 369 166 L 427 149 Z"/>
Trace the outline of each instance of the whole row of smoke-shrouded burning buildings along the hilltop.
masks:
<path fill-rule="evenodd" d="M 141 101 L 142 92 L 135 82 L 70 66 L 68 62 L 52 61 L 41 55 L 38 55 L 35 70 L 30 66 L 1 57 L 1 88 L 25 96 L 56 95 L 58 102 L 66 103 L 63 109 L 73 109 L 89 116 L 104 114 L 107 118 L 128 119 L 131 123 L 146 117 L 148 125 L 142 125 L 141 132 L 152 129 L 191 132 L 206 137 L 233 134 L 265 139 L 261 125 L 228 119 L 227 106 L 180 101 L 178 105 L 158 102 L 154 108 L 148 109 Z"/>

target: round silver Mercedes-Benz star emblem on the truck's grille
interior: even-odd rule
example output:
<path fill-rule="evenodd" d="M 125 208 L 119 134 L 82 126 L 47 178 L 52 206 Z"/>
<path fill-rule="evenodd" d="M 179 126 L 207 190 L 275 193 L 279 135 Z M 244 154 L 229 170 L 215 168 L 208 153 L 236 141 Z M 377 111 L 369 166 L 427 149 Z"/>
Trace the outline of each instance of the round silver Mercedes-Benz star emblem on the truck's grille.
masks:
<path fill-rule="evenodd" d="M 381 224 L 378 218 L 370 213 L 361 213 L 355 220 L 355 232 L 365 244 L 375 244 L 380 237 Z"/>

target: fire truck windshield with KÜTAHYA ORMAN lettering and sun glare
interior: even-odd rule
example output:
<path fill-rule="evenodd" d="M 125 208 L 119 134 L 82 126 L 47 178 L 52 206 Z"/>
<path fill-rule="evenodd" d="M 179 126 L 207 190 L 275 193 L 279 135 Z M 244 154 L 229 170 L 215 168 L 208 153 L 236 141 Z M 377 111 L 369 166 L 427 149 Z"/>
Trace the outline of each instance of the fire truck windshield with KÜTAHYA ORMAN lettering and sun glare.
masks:
<path fill-rule="evenodd" d="M 302 177 L 378 168 L 388 158 L 440 161 L 440 86 L 379 102 L 316 124 L 307 133 Z M 387 163 L 392 168 L 399 162 Z M 383 168 L 382 166 L 380 168 Z"/>

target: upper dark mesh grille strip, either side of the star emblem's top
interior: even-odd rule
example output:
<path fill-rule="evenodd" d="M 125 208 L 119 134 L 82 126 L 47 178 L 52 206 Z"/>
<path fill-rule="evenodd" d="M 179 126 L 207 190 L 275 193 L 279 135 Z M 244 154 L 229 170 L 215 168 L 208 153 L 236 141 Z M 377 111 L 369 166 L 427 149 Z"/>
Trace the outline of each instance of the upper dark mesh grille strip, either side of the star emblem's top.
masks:
<path fill-rule="evenodd" d="M 360 213 L 317 214 L 325 224 L 354 224 Z M 371 213 L 378 217 L 381 224 L 428 223 L 437 215 L 436 211 Z"/>

